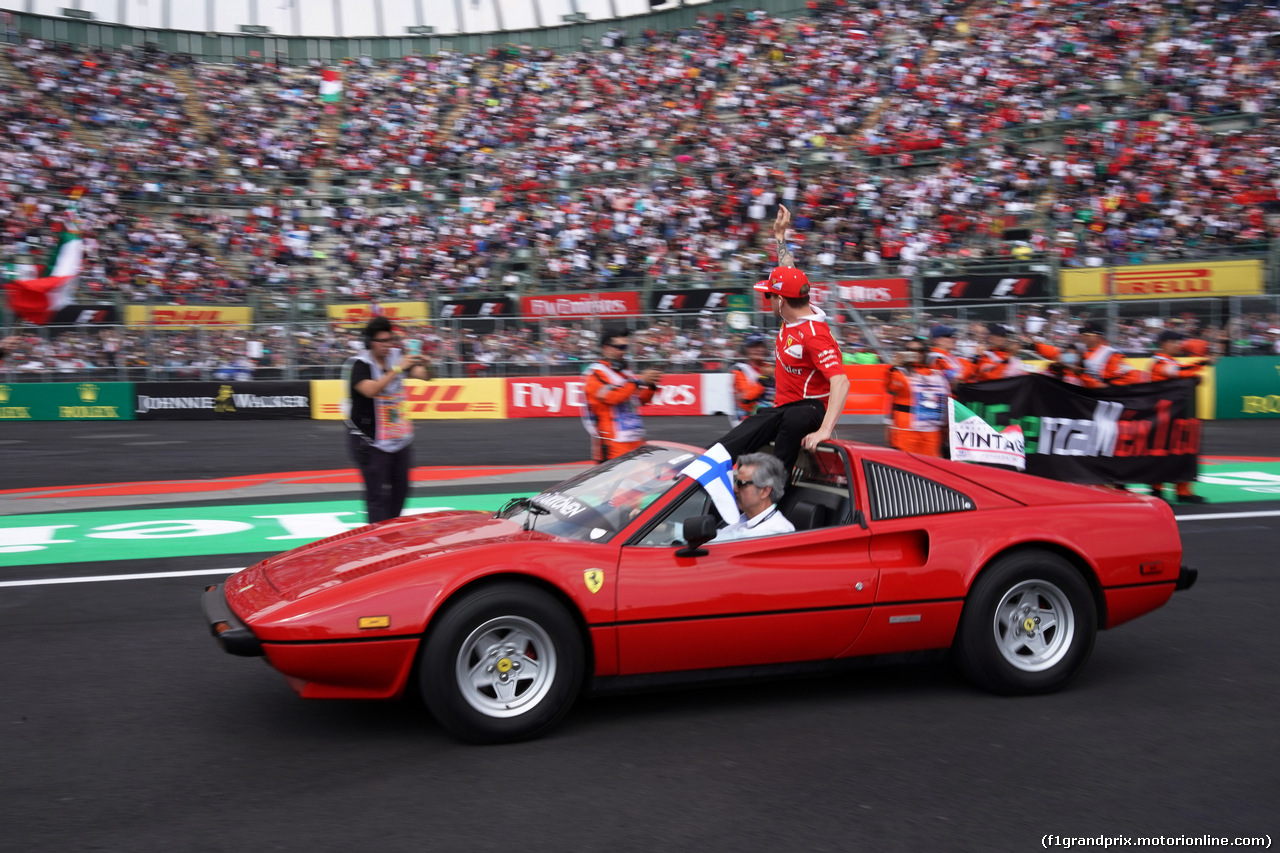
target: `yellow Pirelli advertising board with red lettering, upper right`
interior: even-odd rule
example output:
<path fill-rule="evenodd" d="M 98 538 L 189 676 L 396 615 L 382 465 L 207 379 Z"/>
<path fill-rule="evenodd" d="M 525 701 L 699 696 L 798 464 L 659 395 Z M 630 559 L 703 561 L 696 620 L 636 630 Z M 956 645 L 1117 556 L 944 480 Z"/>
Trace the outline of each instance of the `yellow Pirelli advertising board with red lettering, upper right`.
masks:
<path fill-rule="evenodd" d="M 1257 296 L 1262 291 L 1261 260 L 1097 266 L 1062 270 L 1059 279 L 1064 302 Z"/>

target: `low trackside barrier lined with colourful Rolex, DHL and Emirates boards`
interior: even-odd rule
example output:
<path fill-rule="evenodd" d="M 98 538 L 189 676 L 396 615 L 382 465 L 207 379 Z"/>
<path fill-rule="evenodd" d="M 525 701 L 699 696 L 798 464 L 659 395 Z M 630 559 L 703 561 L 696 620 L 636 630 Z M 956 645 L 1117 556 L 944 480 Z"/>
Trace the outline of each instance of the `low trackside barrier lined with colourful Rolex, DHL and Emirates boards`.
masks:
<path fill-rule="evenodd" d="M 1149 359 L 1128 359 L 1138 370 Z M 1044 362 L 1028 361 L 1033 371 Z M 846 365 L 849 398 L 842 423 L 879 423 L 887 411 L 886 365 Z M 580 375 L 408 380 L 415 420 L 579 418 Z M 4 420 L 279 420 L 342 419 L 340 379 L 227 382 L 10 382 L 0 383 Z M 640 412 L 727 415 L 733 407 L 728 373 L 672 373 Z M 1206 368 L 1196 391 L 1204 420 L 1280 418 L 1280 356 L 1221 359 Z"/>

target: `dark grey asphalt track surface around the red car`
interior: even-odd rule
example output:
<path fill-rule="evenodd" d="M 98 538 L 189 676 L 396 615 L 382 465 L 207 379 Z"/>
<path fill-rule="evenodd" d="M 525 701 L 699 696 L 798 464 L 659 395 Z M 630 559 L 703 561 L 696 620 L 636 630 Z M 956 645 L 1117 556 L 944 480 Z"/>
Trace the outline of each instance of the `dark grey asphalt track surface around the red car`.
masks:
<path fill-rule="evenodd" d="M 649 426 L 657 438 L 708 443 L 724 423 Z M 879 439 L 878 428 L 840 434 Z M 420 465 L 585 457 L 572 421 L 419 424 L 417 444 Z M 1204 452 L 1276 457 L 1280 429 L 1206 424 Z M 316 421 L 0 428 L 0 498 L 347 465 L 339 428 Z M 328 497 L 346 487 L 326 488 Z M 442 488 L 425 482 L 415 494 Z M 452 740 L 416 702 L 296 698 L 268 667 L 218 649 L 198 608 L 209 579 L 3 587 L 0 850 L 980 850 L 1039 847 L 1046 834 L 1275 839 L 1280 537 L 1277 517 L 1248 514 L 1276 507 L 1178 507 L 1192 516 L 1180 528 L 1199 583 L 1100 634 L 1082 675 L 1053 695 L 988 695 L 945 662 L 878 667 L 589 698 L 544 739 L 488 748 Z M 70 574 L 212 570 L 255 556 Z M 58 575 L 19 560 L 0 555 L 0 580 Z"/>

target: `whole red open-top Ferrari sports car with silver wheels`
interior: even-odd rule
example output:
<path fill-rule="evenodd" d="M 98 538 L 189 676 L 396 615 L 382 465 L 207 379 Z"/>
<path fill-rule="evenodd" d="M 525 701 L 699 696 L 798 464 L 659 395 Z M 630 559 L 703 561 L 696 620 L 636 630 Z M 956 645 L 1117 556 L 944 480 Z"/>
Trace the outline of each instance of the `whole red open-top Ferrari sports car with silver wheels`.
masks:
<path fill-rule="evenodd" d="M 650 443 L 497 514 L 314 542 L 207 588 L 205 616 L 303 697 L 412 685 L 457 736 L 503 742 L 584 690 L 931 649 L 998 693 L 1055 690 L 1100 628 L 1196 579 L 1162 501 L 851 442 L 801 457 L 794 533 L 710 542 L 680 474 L 698 453 Z"/>

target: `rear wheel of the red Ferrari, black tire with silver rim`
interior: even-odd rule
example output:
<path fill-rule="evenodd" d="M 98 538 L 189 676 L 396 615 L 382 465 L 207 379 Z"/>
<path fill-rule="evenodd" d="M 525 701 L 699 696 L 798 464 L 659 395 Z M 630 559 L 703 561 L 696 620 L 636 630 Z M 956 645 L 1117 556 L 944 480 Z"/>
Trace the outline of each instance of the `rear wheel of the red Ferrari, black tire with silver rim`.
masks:
<path fill-rule="evenodd" d="M 1023 551 L 978 576 L 952 651 L 979 686 L 1006 695 L 1051 693 L 1089 660 L 1097 631 L 1097 607 L 1080 573 L 1057 555 Z"/>

